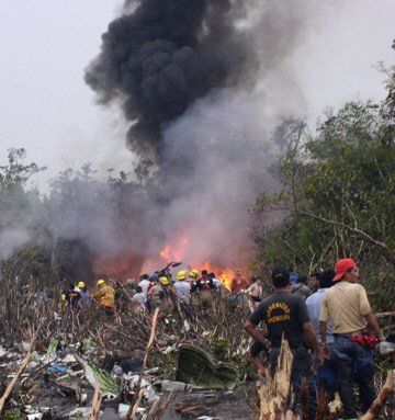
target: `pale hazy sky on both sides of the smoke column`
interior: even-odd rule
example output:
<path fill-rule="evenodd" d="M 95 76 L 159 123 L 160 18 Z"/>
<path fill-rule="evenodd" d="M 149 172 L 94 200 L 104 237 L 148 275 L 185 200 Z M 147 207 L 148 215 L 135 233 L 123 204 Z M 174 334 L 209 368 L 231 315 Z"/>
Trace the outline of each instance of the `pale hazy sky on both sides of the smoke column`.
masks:
<path fill-rule="evenodd" d="M 395 37 L 393 0 L 315 3 L 303 42 L 287 60 L 295 89 L 304 97 L 300 113 L 312 123 L 326 106 L 383 98 L 382 76 L 373 65 L 394 63 Z M 1 162 L 7 149 L 24 147 L 31 160 L 48 167 L 42 183 L 86 161 L 102 170 L 131 166 L 122 118 L 115 110 L 97 106 L 83 82 L 83 70 L 121 4 L 121 0 L 0 0 Z M 286 93 L 282 95 L 287 101 Z"/>

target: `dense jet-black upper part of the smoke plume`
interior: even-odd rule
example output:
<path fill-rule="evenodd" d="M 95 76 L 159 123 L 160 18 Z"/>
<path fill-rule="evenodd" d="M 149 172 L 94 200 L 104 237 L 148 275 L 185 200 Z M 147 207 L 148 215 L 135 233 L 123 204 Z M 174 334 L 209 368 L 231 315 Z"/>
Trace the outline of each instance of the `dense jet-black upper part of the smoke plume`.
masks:
<path fill-rule="evenodd" d="M 133 123 L 128 144 L 139 156 L 162 152 L 162 129 L 212 89 L 234 87 L 255 54 L 237 30 L 242 1 L 127 1 L 125 14 L 103 34 L 87 83 L 101 103 L 121 101 Z"/>

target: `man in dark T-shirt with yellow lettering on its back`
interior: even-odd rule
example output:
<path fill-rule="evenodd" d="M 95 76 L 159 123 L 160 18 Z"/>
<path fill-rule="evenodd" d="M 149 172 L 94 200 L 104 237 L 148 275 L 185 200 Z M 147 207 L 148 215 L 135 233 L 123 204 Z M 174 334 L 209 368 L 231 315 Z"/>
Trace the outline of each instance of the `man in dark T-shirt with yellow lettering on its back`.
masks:
<path fill-rule="evenodd" d="M 317 354 L 323 363 L 318 342 L 309 321 L 306 305 L 302 297 L 291 293 L 290 272 L 276 268 L 272 272 L 274 293 L 267 297 L 246 322 L 246 331 L 258 342 L 271 348 L 269 363 L 273 374 L 280 354 L 281 340 L 284 336 L 293 353 L 291 385 L 295 394 L 295 415 L 301 415 L 301 384 L 305 378 L 308 386 L 308 419 L 316 417 L 316 386 L 312 371 L 308 348 Z M 264 321 L 268 329 L 268 340 L 258 330 L 257 326 Z"/>

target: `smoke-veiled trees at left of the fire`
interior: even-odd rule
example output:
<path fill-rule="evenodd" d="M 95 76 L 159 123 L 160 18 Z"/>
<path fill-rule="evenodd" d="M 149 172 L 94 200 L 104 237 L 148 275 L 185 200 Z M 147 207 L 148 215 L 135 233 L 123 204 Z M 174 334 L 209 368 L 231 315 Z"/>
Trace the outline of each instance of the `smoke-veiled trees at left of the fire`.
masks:
<path fill-rule="evenodd" d="M 49 191 L 42 195 L 29 186 L 29 181 L 45 168 L 26 164 L 25 160 L 23 149 L 13 149 L 8 164 L 0 168 L 3 271 L 12 269 L 12 275 L 27 277 L 50 276 L 50 281 L 89 281 L 98 258 L 112 261 L 127 257 L 124 272 L 111 265 L 102 272 L 123 277 L 138 274 L 149 257 L 145 251 L 149 237 L 145 218 L 154 217 L 148 203 L 157 193 L 140 167 L 136 168 L 139 182 L 129 181 L 124 172 L 102 181 L 89 164 L 77 171 L 67 169 L 52 180 Z M 156 202 L 159 206 L 159 198 Z M 149 227 L 149 234 L 155 238 L 155 226 Z"/>

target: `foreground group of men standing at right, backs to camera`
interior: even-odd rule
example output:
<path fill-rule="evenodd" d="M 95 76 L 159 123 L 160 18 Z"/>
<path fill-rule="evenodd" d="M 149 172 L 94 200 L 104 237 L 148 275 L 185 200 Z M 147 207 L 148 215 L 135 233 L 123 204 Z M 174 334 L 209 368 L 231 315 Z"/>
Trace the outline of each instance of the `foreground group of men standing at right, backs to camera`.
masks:
<path fill-rule="evenodd" d="M 305 378 L 308 419 L 316 418 L 317 399 L 330 399 L 335 393 L 341 398 L 342 419 L 357 419 L 354 382 L 364 412 L 375 399 L 373 349 L 385 339 L 366 292 L 358 283 L 359 269 L 352 259 L 339 260 L 335 271 L 315 275 L 319 285 L 315 293 L 303 286 L 296 288 L 291 275 L 283 268 L 272 271 L 274 293 L 245 325 L 253 338 L 250 359 L 260 372 L 273 374 L 282 339 L 286 339 L 293 353 L 294 412 L 301 413 L 301 384 Z M 259 328 L 261 322 L 263 328 Z M 267 364 L 259 354 L 266 354 Z"/>

